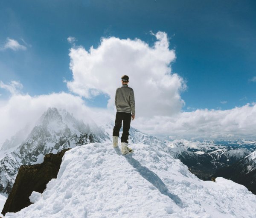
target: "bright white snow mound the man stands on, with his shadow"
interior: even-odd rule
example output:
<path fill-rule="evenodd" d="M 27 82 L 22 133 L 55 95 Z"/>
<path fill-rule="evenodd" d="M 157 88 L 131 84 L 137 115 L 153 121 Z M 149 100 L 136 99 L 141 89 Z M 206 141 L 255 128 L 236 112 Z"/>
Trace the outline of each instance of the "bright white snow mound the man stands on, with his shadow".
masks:
<path fill-rule="evenodd" d="M 256 195 L 224 178 L 202 181 L 150 145 L 121 155 L 112 143 L 68 150 L 42 197 L 5 218 L 255 218 Z"/>

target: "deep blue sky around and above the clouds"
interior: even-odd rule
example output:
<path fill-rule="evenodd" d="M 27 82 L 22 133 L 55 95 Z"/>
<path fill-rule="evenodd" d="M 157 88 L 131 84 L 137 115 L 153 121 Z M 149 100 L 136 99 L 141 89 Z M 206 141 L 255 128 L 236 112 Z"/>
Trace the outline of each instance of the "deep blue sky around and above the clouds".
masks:
<path fill-rule="evenodd" d="M 68 92 L 72 79 L 67 37 L 96 48 L 101 37 L 139 38 L 164 31 L 175 49 L 173 72 L 186 80 L 184 111 L 231 109 L 256 102 L 255 1 L 93 0 L 0 2 L 0 45 L 7 38 L 26 50 L 0 51 L 0 80 L 23 84 L 23 92 Z M 1 99 L 9 93 L 0 90 Z M 87 100 L 105 107 L 108 98 Z"/>

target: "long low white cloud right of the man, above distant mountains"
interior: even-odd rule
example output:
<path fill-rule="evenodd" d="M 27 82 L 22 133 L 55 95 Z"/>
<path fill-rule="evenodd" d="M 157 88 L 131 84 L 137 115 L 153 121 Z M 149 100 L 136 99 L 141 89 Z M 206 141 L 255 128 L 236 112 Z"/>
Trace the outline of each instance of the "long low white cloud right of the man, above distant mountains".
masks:
<path fill-rule="evenodd" d="M 238 139 L 256 137 L 256 105 L 230 110 L 195 110 L 175 116 L 138 118 L 135 127 L 157 136 L 172 139 Z"/>

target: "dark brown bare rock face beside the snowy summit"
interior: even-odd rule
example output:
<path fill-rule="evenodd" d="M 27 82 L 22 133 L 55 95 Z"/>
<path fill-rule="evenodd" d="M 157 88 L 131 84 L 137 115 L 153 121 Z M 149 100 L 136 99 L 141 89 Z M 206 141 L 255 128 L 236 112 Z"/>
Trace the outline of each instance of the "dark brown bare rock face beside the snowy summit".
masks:
<path fill-rule="evenodd" d="M 28 207 L 31 203 L 29 196 L 32 191 L 43 193 L 47 183 L 56 178 L 61 166 L 64 153 L 70 148 L 57 154 L 49 153 L 44 156 L 44 162 L 34 165 L 22 165 L 18 171 L 15 183 L 3 207 L 2 214 L 17 212 Z"/>

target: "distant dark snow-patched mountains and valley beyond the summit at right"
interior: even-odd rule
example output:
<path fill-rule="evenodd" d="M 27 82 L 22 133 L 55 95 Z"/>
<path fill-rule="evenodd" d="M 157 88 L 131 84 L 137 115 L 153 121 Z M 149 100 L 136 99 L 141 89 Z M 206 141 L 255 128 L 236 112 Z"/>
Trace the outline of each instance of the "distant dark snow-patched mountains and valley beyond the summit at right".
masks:
<path fill-rule="evenodd" d="M 233 165 L 256 150 L 256 141 L 204 141 L 165 140 L 175 157 L 198 178 L 209 180 L 217 170 Z"/>

